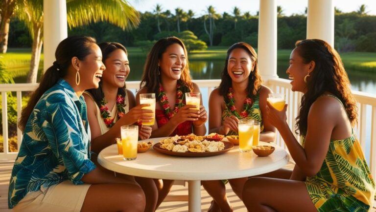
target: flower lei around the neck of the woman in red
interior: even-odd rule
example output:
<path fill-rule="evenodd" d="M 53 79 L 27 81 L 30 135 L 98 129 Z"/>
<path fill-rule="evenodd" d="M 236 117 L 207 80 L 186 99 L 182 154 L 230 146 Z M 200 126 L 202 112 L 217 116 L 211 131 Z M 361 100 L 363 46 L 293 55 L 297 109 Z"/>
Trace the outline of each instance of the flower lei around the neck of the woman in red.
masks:
<path fill-rule="evenodd" d="M 164 109 L 164 114 L 168 117 L 168 119 L 172 118 L 178 112 L 179 108 L 185 105 L 185 102 L 183 101 L 183 88 L 184 86 L 181 86 L 179 82 L 176 84 L 176 102 L 174 108 L 171 109 L 168 104 L 166 93 L 164 92 L 162 85 L 159 84 L 159 101 Z"/>

